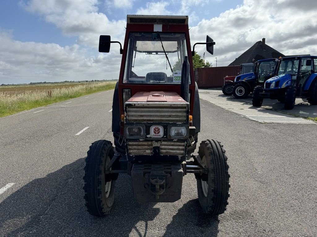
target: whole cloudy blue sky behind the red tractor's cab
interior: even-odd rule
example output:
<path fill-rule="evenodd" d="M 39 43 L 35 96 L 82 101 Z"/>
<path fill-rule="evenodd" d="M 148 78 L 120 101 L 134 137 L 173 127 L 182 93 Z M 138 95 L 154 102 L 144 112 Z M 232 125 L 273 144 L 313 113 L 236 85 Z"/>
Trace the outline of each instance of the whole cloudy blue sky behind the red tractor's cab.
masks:
<path fill-rule="evenodd" d="M 188 15 L 191 42 L 216 41 L 226 66 L 256 41 L 283 54 L 317 54 L 317 1 L 3 0 L 0 84 L 117 79 L 121 56 L 98 53 L 100 34 L 123 43 L 127 14 Z M 198 50 L 201 55 L 204 49 Z"/>

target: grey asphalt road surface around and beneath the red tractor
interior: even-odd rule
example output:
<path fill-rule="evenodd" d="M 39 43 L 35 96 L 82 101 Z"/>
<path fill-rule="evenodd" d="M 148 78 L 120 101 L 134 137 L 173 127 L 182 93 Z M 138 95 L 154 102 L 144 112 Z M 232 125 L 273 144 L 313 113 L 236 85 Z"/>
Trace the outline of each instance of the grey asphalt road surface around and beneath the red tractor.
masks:
<path fill-rule="evenodd" d="M 258 123 L 206 100 L 199 140 L 220 140 L 227 150 L 227 211 L 218 219 L 201 213 L 191 174 L 177 202 L 139 204 L 123 174 L 111 214 L 90 216 L 84 157 L 95 140 L 113 141 L 112 95 L 0 118 L 0 236 L 317 235 L 317 125 Z"/>

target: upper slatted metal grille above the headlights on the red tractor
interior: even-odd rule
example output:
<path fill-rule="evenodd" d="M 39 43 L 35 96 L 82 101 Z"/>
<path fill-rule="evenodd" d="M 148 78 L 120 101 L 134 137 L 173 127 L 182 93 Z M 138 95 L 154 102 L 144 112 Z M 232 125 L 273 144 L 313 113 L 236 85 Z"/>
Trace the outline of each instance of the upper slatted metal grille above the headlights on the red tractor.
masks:
<path fill-rule="evenodd" d="M 175 122 L 187 121 L 187 106 L 134 105 L 126 107 L 127 122 Z"/>

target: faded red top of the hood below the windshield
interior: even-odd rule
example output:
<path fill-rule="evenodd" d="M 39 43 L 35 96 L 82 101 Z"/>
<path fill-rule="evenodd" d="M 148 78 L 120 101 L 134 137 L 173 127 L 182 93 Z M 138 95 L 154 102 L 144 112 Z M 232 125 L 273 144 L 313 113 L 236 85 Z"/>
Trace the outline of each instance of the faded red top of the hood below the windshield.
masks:
<path fill-rule="evenodd" d="M 137 92 L 127 102 L 186 102 L 176 92 Z"/>

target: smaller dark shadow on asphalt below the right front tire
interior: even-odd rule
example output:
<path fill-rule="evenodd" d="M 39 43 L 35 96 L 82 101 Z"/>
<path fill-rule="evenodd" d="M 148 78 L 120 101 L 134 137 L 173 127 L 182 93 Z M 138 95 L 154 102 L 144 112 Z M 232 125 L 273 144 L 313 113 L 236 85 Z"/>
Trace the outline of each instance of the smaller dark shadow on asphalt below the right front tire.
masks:
<path fill-rule="evenodd" d="M 164 236 L 217 236 L 218 224 L 218 217 L 202 213 L 197 198 L 185 203 L 178 210 L 168 224 Z"/>

